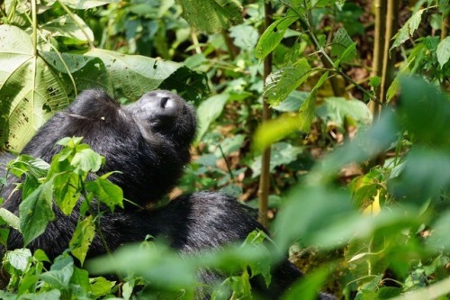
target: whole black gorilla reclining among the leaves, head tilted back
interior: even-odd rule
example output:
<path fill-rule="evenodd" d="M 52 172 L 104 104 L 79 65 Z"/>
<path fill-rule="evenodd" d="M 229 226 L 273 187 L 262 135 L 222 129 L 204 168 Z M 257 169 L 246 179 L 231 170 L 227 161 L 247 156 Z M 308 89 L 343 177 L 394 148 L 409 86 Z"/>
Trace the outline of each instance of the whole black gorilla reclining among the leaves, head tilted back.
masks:
<path fill-rule="evenodd" d="M 121 186 L 124 197 L 146 206 L 175 186 L 190 160 L 195 131 L 193 107 L 178 95 L 159 90 L 143 95 L 132 105 L 119 105 L 103 91 L 92 89 L 78 95 L 66 110 L 55 114 L 22 153 L 49 162 L 59 150 L 55 146 L 58 140 L 83 137 L 83 142 L 105 158 L 103 173 L 121 172 L 109 178 Z M 12 157 L 8 154 L 0 156 L 0 164 L 9 159 Z M 13 192 L 17 180 L 9 177 L 0 195 L 5 199 L 3 207 L 16 215 L 21 203 L 20 192 Z M 78 219 L 76 210 L 69 216 L 56 207 L 54 210 L 56 220 L 28 245 L 31 250 L 44 250 L 50 259 L 67 249 Z M 151 234 L 164 237 L 181 253 L 193 253 L 243 241 L 255 229 L 263 228 L 246 206 L 227 195 L 206 192 L 182 195 L 156 210 L 142 210 L 128 204 L 113 214 L 103 214 L 101 220 L 101 230 L 111 250 L 123 243 L 143 241 Z M 8 250 L 22 247 L 21 234 L 12 231 Z M 88 257 L 103 253 L 102 242 L 95 237 Z M 0 246 L 0 256 L 3 254 Z M 200 277 L 206 284 L 220 280 L 214 272 L 201 272 Z M 302 273 L 286 259 L 275 268 L 271 286 L 260 288 L 268 298 L 275 299 L 299 277 Z M 202 291 L 199 297 L 209 296 Z M 333 297 L 320 294 L 320 299 Z"/>

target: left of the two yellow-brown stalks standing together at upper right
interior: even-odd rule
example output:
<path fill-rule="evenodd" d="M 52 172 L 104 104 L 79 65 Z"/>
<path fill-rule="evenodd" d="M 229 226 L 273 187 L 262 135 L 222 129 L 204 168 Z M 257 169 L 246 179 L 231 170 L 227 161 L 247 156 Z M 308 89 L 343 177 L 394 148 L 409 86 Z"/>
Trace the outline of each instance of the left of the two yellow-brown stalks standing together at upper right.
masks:
<path fill-rule="evenodd" d="M 374 34 L 374 59 L 371 77 L 381 77 L 383 81 L 383 53 L 385 44 L 386 31 L 386 7 L 388 0 L 375 0 L 375 34 Z M 370 110 L 374 115 L 374 120 L 378 117 L 381 110 L 380 103 L 383 99 L 380 97 L 382 86 L 375 88 L 375 97 L 377 102 L 371 101 L 369 103 Z"/>

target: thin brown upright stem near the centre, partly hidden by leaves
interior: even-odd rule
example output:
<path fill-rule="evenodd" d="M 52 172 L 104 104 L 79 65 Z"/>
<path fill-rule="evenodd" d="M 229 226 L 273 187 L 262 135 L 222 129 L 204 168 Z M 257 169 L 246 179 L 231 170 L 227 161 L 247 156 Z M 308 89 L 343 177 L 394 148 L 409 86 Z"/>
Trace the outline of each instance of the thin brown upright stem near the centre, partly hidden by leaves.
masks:
<path fill-rule="evenodd" d="M 272 5 L 265 3 L 266 24 L 265 29 L 272 23 Z M 264 81 L 272 72 L 272 53 L 269 53 L 264 59 Z M 267 104 L 266 98 L 263 99 L 263 123 L 271 118 L 272 111 Z M 259 177 L 259 188 L 257 195 L 259 198 L 259 222 L 267 226 L 267 210 L 270 187 L 270 147 L 263 151 L 261 160 L 261 176 Z"/>

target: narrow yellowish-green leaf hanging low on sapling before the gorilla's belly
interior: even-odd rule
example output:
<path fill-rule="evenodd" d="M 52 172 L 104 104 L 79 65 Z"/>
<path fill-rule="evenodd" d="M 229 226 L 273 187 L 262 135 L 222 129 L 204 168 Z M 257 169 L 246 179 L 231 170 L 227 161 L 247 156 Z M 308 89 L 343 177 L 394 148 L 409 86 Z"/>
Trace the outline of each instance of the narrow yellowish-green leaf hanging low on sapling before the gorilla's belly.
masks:
<path fill-rule="evenodd" d="M 92 215 L 89 215 L 85 220 L 76 224 L 75 232 L 70 240 L 70 252 L 81 262 L 85 262 L 85 256 L 91 242 L 95 236 L 95 225 Z"/>

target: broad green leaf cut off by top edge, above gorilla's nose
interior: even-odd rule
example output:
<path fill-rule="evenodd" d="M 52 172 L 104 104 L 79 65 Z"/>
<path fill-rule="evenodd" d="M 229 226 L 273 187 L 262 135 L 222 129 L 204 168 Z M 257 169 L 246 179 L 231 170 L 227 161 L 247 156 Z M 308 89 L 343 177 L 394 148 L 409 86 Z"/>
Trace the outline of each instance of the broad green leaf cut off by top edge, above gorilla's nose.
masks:
<path fill-rule="evenodd" d="M 196 29 L 216 33 L 242 22 L 242 6 L 237 0 L 177 0 L 183 17 Z"/>

